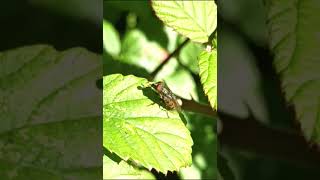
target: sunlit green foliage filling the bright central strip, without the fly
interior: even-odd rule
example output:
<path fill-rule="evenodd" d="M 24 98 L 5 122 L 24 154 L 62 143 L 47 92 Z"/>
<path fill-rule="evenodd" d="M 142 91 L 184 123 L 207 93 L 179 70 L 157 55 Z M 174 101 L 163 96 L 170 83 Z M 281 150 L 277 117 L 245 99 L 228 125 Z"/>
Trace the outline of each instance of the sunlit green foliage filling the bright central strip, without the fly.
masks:
<path fill-rule="evenodd" d="M 115 14 L 121 14 L 123 10 L 129 13 L 124 16 L 125 28 L 118 28 L 118 32 L 112 27 L 112 24 L 116 24 L 115 22 L 119 23 L 115 16 L 105 14 L 104 18 L 103 145 L 107 151 L 111 152 L 111 155 L 119 156 L 121 159 L 119 165 L 125 161 L 129 162 L 126 165 L 126 168 L 129 168 L 128 171 L 130 169 L 138 171 L 139 168 L 142 168 L 155 169 L 167 174 L 168 171 L 181 169 L 180 177 L 188 179 L 190 175 L 192 176 L 188 172 L 193 169 L 192 172 L 199 173 L 199 178 L 215 178 L 216 164 L 214 162 L 216 158 L 212 163 L 209 160 L 212 154 L 201 152 L 198 138 L 202 137 L 199 135 L 194 137 L 191 134 L 193 137 L 191 139 L 190 136 L 190 130 L 201 128 L 204 125 L 192 123 L 199 115 L 191 116 L 193 118 L 189 119 L 189 115 L 186 116 L 184 111 L 168 109 L 151 84 L 165 80 L 169 88 L 179 97 L 195 100 L 201 97 L 205 99 L 205 103 L 208 103 L 208 100 L 203 98 L 205 94 L 198 93 L 198 89 L 202 87 L 196 86 L 196 83 L 200 82 L 196 82 L 193 78 L 194 74 L 200 72 L 198 76 L 205 79 L 203 80 L 204 91 L 208 93 L 210 102 L 213 102 L 212 106 L 214 105 L 217 89 L 211 87 L 217 86 L 216 70 L 203 72 L 206 67 L 200 66 L 199 68 L 197 61 L 199 57 L 206 66 L 217 67 L 216 53 L 211 56 L 200 54 L 202 50 L 205 50 L 205 44 L 213 48 L 209 37 L 216 29 L 216 5 L 213 1 L 201 3 L 152 1 L 151 6 L 146 5 L 145 2 L 134 4 L 105 2 L 105 7 L 110 10 L 112 7 Z M 165 27 L 158 28 L 156 23 L 141 26 L 143 23 L 139 22 L 146 22 L 147 25 L 150 22 L 160 22 L 152 15 L 152 10 L 163 21 Z M 182 21 L 180 16 L 184 17 Z M 196 26 L 190 26 L 194 24 Z M 151 39 L 157 40 L 158 38 L 156 34 L 153 34 L 151 38 L 150 31 L 157 31 L 157 34 L 164 33 L 168 40 L 152 41 Z M 185 44 L 181 42 L 186 41 L 186 38 L 191 40 L 187 43 L 186 50 L 182 46 L 182 49 L 174 54 L 174 57 L 169 59 L 159 72 L 153 74 L 159 65 L 164 63 L 162 61 L 170 56 L 170 51 L 179 49 L 181 44 Z M 199 42 L 202 44 L 198 44 Z M 114 66 L 115 63 L 122 65 Z M 128 73 L 125 66 L 128 67 L 126 69 L 133 70 L 132 67 L 135 67 L 137 70 Z M 119 68 L 115 69 L 115 67 Z M 139 69 L 143 69 L 146 73 L 141 76 Z M 202 119 L 200 118 L 199 121 Z M 209 119 L 210 123 L 207 125 L 209 129 L 201 136 L 211 137 L 204 144 L 210 144 L 206 148 L 209 148 L 209 152 L 215 153 L 215 135 L 211 132 L 215 128 L 215 118 Z M 197 127 L 192 127 L 192 124 Z M 199 143 L 194 144 L 195 147 L 193 147 L 197 149 L 196 154 L 191 153 L 193 141 Z M 110 159 L 108 161 L 112 161 Z M 192 159 L 196 164 L 188 167 Z M 210 166 L 206 168 L 206 164 Z M 111 173 L 114 172 L 106 170 L 104 175 L 110 177 Z M 113 174 L 113 176 L 117 175 Z"/>

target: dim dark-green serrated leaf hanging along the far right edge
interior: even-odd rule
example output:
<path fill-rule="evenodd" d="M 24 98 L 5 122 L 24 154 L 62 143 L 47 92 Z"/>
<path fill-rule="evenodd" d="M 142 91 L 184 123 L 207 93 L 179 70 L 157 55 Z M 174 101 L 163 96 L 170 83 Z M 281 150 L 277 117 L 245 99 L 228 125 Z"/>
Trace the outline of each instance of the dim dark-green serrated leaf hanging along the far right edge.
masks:
<path fill-rule="evenodd" d="M 318 1 L 268 4 L 270 47 L 288 103 L 307 140 L 320 144 L 320 73 Z"/>

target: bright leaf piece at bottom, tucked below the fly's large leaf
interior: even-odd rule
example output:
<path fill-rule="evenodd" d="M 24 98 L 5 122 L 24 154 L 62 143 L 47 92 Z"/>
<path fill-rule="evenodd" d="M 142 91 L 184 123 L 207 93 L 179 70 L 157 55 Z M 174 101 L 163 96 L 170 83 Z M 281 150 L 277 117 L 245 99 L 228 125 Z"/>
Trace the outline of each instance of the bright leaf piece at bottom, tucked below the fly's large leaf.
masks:
<path fill-rule="evenodd" d="M 119 164 L 112 161 L 108 156 L 103 156 L 103 179 L 155 179 L 145 170 L 140 170 L 129 165 L 125 161 Z"/>

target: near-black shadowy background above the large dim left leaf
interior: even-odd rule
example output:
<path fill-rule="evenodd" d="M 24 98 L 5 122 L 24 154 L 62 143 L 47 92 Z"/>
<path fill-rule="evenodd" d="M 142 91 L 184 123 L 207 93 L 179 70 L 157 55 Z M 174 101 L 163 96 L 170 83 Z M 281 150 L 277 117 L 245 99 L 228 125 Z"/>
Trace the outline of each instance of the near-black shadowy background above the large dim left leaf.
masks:
<path fill-rule="evenodd" d="M 85 47 L 93 52 L 102 52 L 102 25 L 98 23 L 102 18 L 90 16 L 90 13 L 101 13 L 101 0 L 90 1 L 92 10 L 84 12 L 71 11 L 83 9 L 81 6 L 85 4 L 81 4 L 81 1 L 73 4 L 64 1 L 56 1 L 56 4 L 49 2 L 52 1 L 1 2 L 0 50 L 32 44 L 50 44 L 58 50 Z M 68 4 L 70 9 L 66 8 Z"/>

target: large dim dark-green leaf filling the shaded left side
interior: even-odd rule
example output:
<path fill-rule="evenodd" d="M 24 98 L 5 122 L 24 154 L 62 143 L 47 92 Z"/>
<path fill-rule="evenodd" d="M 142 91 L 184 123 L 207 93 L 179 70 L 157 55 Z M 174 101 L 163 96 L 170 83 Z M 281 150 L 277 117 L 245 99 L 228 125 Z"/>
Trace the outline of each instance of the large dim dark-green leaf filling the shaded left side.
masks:
<path fill-rule="evenodd" d="M 99 178 L 101 74 L 101 58 L 82 48 L 0 53 L 2 179 Z"/>

